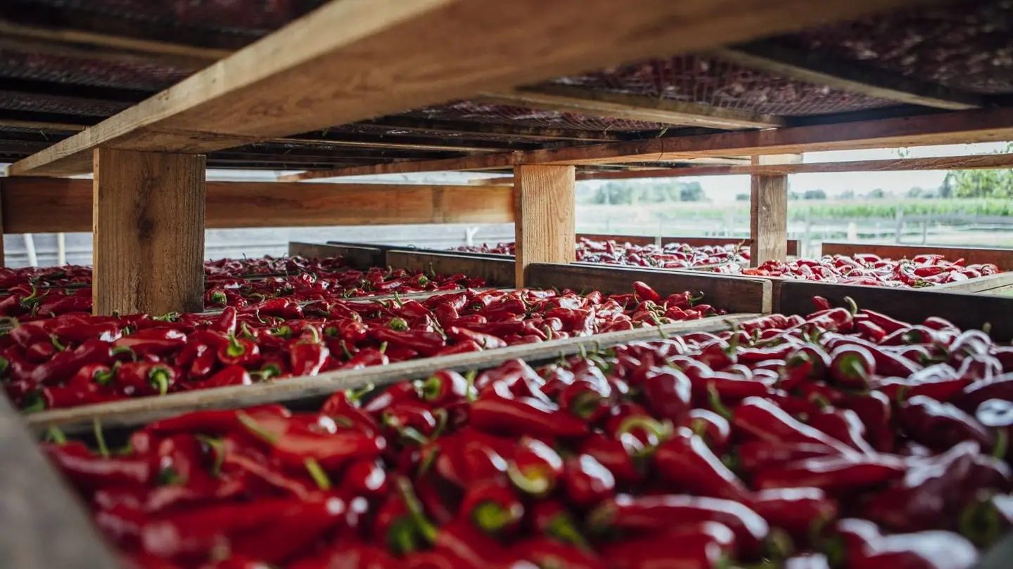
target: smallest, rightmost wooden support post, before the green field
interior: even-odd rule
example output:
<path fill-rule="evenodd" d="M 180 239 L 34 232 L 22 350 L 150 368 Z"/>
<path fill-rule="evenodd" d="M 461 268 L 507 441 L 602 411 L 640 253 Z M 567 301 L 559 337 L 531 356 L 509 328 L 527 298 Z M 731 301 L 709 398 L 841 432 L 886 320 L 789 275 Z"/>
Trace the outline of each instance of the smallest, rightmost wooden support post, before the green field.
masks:
<path fill-rule="evenodd" d="M 801 162 L 799 154 L 754 156 L 753 164 L 793 164 Z M 753 251 L 750 266 L 757 266 L 771 259 L 788 258 L 788 176 L 752 176 L 750 194 L 750 235 Z"/>

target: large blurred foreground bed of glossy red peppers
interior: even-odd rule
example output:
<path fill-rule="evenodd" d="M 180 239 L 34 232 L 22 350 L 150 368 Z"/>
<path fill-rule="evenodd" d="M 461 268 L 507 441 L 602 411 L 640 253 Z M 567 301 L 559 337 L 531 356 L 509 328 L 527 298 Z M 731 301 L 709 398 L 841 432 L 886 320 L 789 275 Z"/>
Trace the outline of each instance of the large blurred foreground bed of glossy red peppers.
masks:
<path fill-rule="evenodd" d="M 45 449 L 148 569 L 968 569 L 1013 518 L 1013 346 L 816 301 Z"/>

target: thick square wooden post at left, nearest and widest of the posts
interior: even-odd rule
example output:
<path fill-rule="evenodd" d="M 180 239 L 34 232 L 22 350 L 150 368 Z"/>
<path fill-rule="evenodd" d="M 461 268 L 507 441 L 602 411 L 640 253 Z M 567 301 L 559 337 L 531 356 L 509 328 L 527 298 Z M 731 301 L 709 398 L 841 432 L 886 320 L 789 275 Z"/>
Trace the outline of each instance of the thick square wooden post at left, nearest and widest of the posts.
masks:
<path fill-rule="evenodd" d="M 95 150 L 95 314 L 203 309 L 205 163 Z"/>

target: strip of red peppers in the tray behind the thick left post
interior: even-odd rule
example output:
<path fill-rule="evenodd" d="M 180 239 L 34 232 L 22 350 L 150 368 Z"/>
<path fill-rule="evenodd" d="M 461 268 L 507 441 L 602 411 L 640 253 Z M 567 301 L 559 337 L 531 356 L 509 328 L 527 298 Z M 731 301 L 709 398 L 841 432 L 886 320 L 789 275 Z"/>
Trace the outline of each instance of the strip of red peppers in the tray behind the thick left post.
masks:
<path fill-rule="evenodd" d="M 293 259 L 289 259 L 293 260 Z M 328 269 L 330 270 L 330 269 Z M 90 280 L 90 276 L 88 277 Z M 205 288 L 205 308 L 243 308 L 270 299 L 325 302 L 347 298 L 410 295 L 435 291 L 459 291 L 484 287 L 481 278 L 464 274 L 423 274 L 405 269 L 373 267 L 303 272 L 284 276 L 209 276 Z M 42 320 L 71 313 L 91 312 L 91 286 L 45 287 L 40 282 L 16 284 L 0 294 L 0 317 L 21 321 Z"/>

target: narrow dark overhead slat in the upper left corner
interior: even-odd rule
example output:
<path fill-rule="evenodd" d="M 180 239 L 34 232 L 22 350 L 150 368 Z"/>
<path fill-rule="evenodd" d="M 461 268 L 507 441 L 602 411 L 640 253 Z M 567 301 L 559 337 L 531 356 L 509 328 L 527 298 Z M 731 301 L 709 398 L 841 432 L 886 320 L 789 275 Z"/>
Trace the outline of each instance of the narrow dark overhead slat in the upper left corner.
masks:
<path fill-rule="evenodd" d="M 231 50 L 183 46 L 66 27 L 38 27 L 0 19 L 0 48 L 113 63 L 145 63 L 197 71 Z"/>

